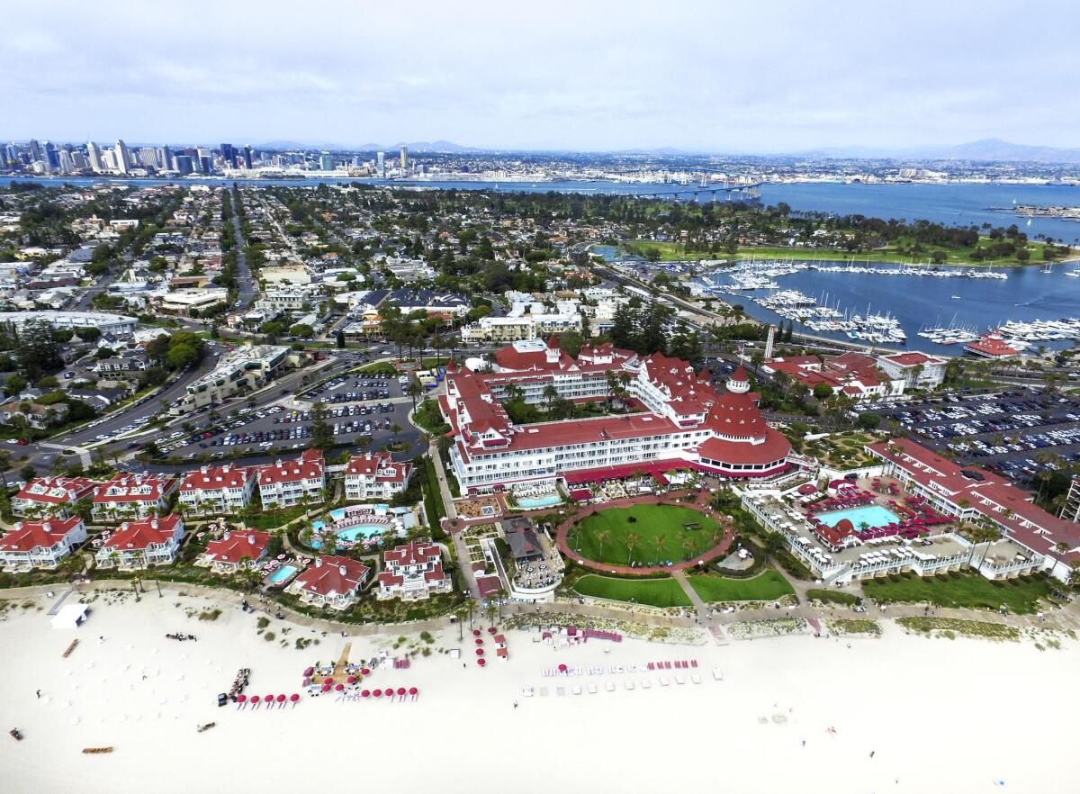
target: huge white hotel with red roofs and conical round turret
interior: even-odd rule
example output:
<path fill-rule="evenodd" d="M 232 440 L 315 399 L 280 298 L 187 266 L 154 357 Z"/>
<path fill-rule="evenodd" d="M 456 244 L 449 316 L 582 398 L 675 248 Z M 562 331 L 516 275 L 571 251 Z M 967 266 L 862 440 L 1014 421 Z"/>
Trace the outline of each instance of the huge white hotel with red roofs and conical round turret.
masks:
<path fill-rule="evenodd" d="M 721 477 L 770 476 L 785 471 L 791 444 L 761 418 L 740 368 L 727 392 L 713 388 L 678 359 L 585 347 L 577 360 L 552 338 L 519 341 L 495 354 L 490 374 L 447 367 L 440 398 L 454 429 L 450 463 L 465 493 L 554 488 L 567 484 L 692 468 Z M 610 375 L 610 382 L 609 375 Z M 512 388 L 529 403 L 544 402 L 554 386 L 561 398 L 604 400 L 613 387 L 645 412 L 515 426 L 500 404 Z"/>

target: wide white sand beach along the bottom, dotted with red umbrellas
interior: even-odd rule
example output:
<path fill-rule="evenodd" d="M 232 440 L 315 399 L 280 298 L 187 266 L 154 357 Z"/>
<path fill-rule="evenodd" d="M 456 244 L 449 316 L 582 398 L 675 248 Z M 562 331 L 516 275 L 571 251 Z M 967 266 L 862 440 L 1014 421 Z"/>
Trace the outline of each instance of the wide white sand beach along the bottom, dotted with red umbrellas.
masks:
<path fill-rule="evenodd" d="M 511 633 L 511 661 L 478 669 L 471 637 L 461 661 L 418 658 L 368 684 L 417 686 L 417 702 L 335 702 L 305 696 L 294 710 L 238 711 L 216 695 L 240 667 L 251 694 L 298 691 L 302 670 L 338 654 L 340 635 L 300 651 L 256 635 L 255 617 L 227 608 L 215 622 L 188 618 L 165 595 L 93 604 L 75 632 L 43 611 L 0 622 L 0 791 L 257 792 L 1075 792 L 1067 771 L 1078 646 L 908 637 L 782 637 L 726 647 L 592 642 L 553 650 Z M 183 600 L 204 607 L 208 602 Z M 43 604 L 44 602 L 42 602 Z M 282 636 L 285 624 L 273 621 Z M 164 634 L 186 631 L 198 643 Z M 98 635 L 106 641 L 98 643 Z M 67 659 L 72 637 L 80 645 Z M 353 638 L 370 656 L 394 637 Z M 447 630 L 433 647 L 457 647 Z M 490 641 L 485 644 L 494 652 Z M 605 652 L 609 651 L 609 652 Z M 545 678 L 544 667 L 698 659 L 693 671 Z M 713 664 L 725 681 L 715 682 Z M 146 681 L 143 675 L 146 674 Z M 643 678 L 652 686 L 644 689 Z M 623 681 L 636 684 L 624 689 Z M 618 685 L 615 692 L 607 681 Z M 596 683 L 591 695 L 588 685 Z M 580 685 L 583 694 L 572 695 Z M 536 697 L 525 698 L 523 686 Z M 540 697 L 548 686 L 550 695 Z M 562 686 L 566 695 L 558 697 Z M 35 690 L 41 688 L 43 698 Z M 517 700 L 518 708 L 513 708 Z M 217 726 L 197 734 L 197 725 Z M 17 726 L 26 739 L 6 730 Z M 833 726 L 836 734 L 827 728 Z M 801 741 L 806 740 L 806 748 Z M 114 745 L 111 755 L 84 746 Z M 875 757 L 870 758 L 870 752 Z M 896 780 L 899 779 L 899 783 Z"/>

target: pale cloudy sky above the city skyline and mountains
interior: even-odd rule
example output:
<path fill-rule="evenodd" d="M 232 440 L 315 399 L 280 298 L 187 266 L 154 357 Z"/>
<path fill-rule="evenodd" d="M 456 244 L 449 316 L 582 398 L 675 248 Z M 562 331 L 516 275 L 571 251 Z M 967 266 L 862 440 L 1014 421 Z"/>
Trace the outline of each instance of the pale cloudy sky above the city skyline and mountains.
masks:
<path fill-rule="evenodd" d="M 1076 3 L 39 0 L 0 28 L 0 136 L 1075 147 Z"/>

